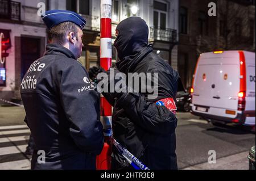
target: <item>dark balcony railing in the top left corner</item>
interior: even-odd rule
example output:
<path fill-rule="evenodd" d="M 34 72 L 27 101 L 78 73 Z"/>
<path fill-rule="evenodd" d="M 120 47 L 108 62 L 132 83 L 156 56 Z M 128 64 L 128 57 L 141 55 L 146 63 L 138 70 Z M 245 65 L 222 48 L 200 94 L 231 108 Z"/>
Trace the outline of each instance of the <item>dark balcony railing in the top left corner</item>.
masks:
<path fill-rule="evenodd" d="M 20 20 L 20 2 L 0 0 L 0 18 Z"/>

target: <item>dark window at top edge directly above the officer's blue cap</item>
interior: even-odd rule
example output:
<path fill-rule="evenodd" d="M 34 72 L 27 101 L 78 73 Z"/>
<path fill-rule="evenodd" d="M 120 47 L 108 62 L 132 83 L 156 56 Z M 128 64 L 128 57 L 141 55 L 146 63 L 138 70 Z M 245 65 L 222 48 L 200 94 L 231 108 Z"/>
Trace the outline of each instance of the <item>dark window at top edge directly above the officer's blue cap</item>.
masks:
<path fill-rule="evenodd" d="M 79 14 L 89 15 L 89 0 L 67 0 L 66 7 L 69 11 Z"/>

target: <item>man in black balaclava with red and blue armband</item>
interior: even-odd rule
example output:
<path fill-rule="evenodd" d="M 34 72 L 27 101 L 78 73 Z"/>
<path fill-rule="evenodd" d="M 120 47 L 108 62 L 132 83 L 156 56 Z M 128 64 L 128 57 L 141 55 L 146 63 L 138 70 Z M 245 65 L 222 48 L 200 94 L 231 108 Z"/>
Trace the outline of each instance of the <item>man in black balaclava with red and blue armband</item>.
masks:
<path fill-rule="evenodd" d="M 148 45 L 148 26 L 143 19 L 133 16 L 123 20 L 116 34 L 114 47 L 120 59 L 117 69 L 126 75 L 158 73 L 158 95 L 152 98 L 148 91 L 103 92 L 114 107 L 113 137 L 149 169 L 177 169 L 177 119 L 170 102 L 175 104 L 177 90 L 183 89 L 179 74 L 152 52 Z M 140 82 L 140 86 L 145 85 Z M 112 156 L 112 169 L 132 168 L 116 148 Z"/>

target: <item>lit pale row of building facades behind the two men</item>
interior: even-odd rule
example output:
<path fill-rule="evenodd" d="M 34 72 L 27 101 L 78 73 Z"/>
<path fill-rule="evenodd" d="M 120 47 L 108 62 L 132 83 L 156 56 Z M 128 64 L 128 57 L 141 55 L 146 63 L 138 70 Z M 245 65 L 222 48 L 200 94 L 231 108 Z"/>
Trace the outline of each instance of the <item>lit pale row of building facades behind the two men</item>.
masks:
<path fill-rule="evenodd" d="M 20 99 L 19 86 L 24 73 L 33 61 L 43 56 L 47 28 L 38 15 L 40 2 L 46 10 L 71 10 L 86 19 L 85 47 L 79 61 L 86 69 L 100 65 L 100 0 L 0 0 L 0 32 L 5 34 L 2 45 L 10 40 L 9 47 L 2 51 L 9 56 L 0 62 L 0 99 Z M 148 40 L 154 52 L 177 69 L 179 1 L 113 0 L 112 4 L 112 42 L 121 20 L 140 16 L 148 24 Z M 114 47 L 112 52 L 114 66 L 118 61 Z"/>

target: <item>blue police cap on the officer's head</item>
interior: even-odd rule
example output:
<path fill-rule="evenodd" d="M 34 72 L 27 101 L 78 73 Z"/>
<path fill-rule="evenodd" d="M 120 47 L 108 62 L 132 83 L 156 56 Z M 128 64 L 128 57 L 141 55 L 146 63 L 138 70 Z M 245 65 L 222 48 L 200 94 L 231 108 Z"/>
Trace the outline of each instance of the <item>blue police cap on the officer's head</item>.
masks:
<path fill-rule="evenodd" d="M 42 19 L 48 29 L 63 23 L 63 22 L 72 22 L 75 23 L 77 26 L 84 28 L 86 24 L 86 20 L 82 18 L 76 12 L 68 11 L 68 10 L 49 10 L 46 11 L 46 15 L 42 15 Z"/>

